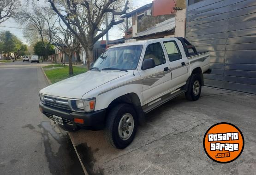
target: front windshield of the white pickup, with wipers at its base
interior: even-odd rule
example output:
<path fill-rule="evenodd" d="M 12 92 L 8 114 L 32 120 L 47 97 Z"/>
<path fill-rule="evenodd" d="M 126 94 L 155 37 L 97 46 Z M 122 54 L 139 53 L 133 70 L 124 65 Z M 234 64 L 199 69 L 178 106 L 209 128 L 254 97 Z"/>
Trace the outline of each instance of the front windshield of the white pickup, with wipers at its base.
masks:
<path fill-rule="evenodd" d="M 107 49 L 94 63 L 93 68 L 98 69 L 125 69 L 137 68 L 142 51 L 142 45 L 129 45 Z"/>

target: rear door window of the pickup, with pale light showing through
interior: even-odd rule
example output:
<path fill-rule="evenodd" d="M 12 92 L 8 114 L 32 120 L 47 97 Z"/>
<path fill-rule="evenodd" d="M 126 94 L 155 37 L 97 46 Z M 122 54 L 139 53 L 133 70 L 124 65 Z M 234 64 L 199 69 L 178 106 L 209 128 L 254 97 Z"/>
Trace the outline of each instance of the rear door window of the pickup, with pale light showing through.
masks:
<path fill-rule="evenodd" d="M 164 45 L 165 45 L 170 62 L 173 62 L 182 58 L 175 41 L 164 42 Z"/>

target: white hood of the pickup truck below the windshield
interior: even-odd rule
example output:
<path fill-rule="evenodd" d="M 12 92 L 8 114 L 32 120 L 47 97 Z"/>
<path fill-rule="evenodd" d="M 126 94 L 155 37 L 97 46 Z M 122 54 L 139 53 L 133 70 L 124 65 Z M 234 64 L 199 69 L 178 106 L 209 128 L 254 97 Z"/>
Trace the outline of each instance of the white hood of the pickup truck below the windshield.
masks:
<path fill-rule="evenodd" d="M 49 85 L 40 90 L 40 93 L 50 96 L 81 99 L 90 90 L 126 74 L 126 72 L 121 71 L 88 71 Z"/>

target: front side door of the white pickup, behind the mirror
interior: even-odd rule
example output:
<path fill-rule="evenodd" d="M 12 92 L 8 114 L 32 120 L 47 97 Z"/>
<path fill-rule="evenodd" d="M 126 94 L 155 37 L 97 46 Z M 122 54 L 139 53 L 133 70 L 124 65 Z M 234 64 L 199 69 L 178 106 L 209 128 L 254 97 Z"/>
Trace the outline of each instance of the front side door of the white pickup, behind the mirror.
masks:
<path fill-rule="evenodd" d="M 170 90 L 171 72 L 170 64 L 167 62 L 162 44 L 160 42 L 145 45 L 143 60 L 153 58 L 155 68 L 147 70 L 140 69 L 143 88 L 143 104 L 154 101 Z"/>

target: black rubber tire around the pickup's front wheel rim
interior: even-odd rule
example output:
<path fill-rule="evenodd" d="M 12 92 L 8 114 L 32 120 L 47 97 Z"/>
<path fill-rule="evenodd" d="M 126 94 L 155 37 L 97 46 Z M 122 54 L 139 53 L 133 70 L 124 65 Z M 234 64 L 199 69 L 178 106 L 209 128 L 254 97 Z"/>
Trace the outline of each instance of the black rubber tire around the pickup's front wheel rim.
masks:
<path fill-rule="evenodd" d="M 119 122 L 124 114 L 129 113 L 133 117 L 134 127 L 130 137 L 127 140 L 121 139 L 119 136 Z M 107 142 L 115 148 L 124 149 L 134 139 L 137 130 L 137 115 L 134 108 L 130 104 L 118 104 L 113 107 L 107 115 L 106 127 L 105 127 L 105 138 Z"/>

